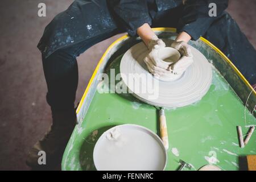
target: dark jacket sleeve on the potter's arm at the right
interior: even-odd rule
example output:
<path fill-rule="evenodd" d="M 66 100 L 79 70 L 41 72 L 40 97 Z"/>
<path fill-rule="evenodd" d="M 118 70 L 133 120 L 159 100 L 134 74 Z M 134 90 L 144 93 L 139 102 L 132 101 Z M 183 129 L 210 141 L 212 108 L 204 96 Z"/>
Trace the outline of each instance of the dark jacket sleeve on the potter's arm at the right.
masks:
<path fill-rule="evenodd" d="M 211 9 L 209 3 L 217 5 L 217 16 L 209 16 L 209 10 Z M 228 0 L 187 0 L 177 31 L 185 31 L 192 37 L 192 40 L 197 40 L 205 34 L 226 7 L 228 7 Z"/>

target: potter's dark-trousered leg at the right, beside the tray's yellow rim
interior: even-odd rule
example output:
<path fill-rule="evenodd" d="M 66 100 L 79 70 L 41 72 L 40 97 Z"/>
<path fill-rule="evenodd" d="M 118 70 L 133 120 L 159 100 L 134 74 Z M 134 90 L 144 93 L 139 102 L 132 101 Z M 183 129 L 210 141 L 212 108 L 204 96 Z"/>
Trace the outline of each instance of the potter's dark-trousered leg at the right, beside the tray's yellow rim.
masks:
<path fill-rule="evenodd" d="M 256 51 L 228 13 L 210 26 L 204 38 L 225 53 L 251 85 L 256 84 Z"/>

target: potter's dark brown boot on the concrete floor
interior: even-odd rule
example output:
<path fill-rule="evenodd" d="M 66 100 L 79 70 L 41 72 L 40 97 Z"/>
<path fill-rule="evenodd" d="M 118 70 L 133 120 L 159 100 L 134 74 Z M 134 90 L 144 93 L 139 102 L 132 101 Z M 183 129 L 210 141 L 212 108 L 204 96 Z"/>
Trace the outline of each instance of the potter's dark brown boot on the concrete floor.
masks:
<path fill-rule="evenodd" d="M 63 152 L 76 125 L 76 115 L 74 111 L 66 111 L 55 113 L 52 118 L 51 129 L 42 140 L 36 142 L 28 154 L 26 164 L 32 169 L 52 170 L 57 164 L 61 164 Z M 43 154 L 40 151 L 43 151 Z M 42 159 L 44 154 L 46 160 Z"/>

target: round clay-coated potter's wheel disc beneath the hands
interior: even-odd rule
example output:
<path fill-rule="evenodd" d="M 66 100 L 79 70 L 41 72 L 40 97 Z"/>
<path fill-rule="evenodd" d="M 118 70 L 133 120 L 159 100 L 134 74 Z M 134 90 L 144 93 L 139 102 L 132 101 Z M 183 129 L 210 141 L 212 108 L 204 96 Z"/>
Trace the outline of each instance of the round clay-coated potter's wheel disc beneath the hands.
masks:
<path fill-rule="evenodd" d="M 135 44 L 121 60 L 123 83 L 139 100 L 154 106 L 181 107 L 201 100 L 212 82 L 212 68 L 200 51 L 190 47 L 193 64 L 177 80 L 160 81 L 144 64 L 147 47 L 143 42 Z"/>

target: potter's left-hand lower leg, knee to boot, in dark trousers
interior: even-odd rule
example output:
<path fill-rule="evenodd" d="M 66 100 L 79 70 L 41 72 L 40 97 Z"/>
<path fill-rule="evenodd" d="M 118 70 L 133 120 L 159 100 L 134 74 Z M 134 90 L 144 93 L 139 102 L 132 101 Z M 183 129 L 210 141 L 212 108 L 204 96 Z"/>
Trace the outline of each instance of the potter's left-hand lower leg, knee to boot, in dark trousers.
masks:
<path fill-rule="evenodd" d="M 75 101 L 78 81 L 76 57 L 71 48 L 59 49 L 47 58 L 42 56 L 47 82 L 47 102 L 52 110 L 52 126 L 42 140 L 32 147 L 26 163 L 32 169 L 51 169 L 60 162 L 73 128 L 76 114 Z M 38 164 L 38 152 L 46 152 L 46 165 Z"/>

